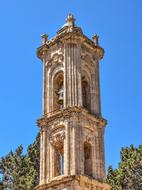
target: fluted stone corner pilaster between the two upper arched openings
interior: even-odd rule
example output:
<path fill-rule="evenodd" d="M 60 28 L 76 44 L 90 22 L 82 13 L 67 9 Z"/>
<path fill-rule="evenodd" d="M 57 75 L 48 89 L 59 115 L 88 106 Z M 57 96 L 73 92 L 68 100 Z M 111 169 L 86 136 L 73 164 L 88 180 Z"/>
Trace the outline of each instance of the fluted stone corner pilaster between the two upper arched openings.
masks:
<path fill-rule="evenodd" d="M 82 106 L 80 42 L 75 39 L 64 40 L 64 107 Z"/>

